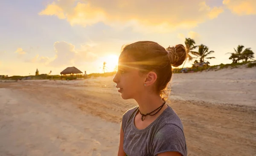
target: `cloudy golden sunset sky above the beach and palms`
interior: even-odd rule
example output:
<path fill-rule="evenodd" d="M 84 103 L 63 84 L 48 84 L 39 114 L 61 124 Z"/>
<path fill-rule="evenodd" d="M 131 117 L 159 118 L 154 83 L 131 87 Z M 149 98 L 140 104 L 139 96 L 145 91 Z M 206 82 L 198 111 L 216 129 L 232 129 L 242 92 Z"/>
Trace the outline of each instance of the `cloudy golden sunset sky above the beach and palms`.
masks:
<path fill-rule="evenodd" d="M 0 75 L 112 71 L 138 40 L 192 38 L 215 51 L 210 65 L 231 63 L 239 44 L 256 53 L 256 0 L 0 0 L 0 23 Z"/>

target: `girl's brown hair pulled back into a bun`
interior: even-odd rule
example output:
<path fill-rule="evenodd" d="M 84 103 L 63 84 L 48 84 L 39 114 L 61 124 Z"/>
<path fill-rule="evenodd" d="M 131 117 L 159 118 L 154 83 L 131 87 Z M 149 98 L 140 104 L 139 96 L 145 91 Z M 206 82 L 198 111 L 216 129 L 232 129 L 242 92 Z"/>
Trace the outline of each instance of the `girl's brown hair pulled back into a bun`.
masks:
<path fill-rule="evenodd" d="M 125 55 L 127 61 L 135 64 L 146 73 L 154 71 L 157 74 L 156 91 L 163 100 L 168 98 L 166 94 L 167 84 L 172 78 L 172 66 L 180 66 L 186 59 L 186 49 L 182 44 L 168 47 L 167 50 L 156 42 L 139 41 L 126 45 L 121 55 Z M 165 97 L 164 97 L 165 96 Z"/>

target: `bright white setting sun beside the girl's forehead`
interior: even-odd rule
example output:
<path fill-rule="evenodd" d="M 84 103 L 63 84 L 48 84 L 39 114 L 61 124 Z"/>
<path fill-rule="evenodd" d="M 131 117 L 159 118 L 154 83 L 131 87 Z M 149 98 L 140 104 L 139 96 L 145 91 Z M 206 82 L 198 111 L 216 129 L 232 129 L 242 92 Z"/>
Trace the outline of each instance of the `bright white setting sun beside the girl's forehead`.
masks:
<path fill-rule="evenodd" d="M 119 57 L 117 55 L 111 54 L 111 55 L 106 55 L 106 56 L 100 58 L 100 60 L 98 62 L 100 62 L 101 67 L 103 67 L 103 63 L 106 62 L 105 72 L 113 72 L 116 69 L 116 66 L 118 64 L 118 58 Z"/>

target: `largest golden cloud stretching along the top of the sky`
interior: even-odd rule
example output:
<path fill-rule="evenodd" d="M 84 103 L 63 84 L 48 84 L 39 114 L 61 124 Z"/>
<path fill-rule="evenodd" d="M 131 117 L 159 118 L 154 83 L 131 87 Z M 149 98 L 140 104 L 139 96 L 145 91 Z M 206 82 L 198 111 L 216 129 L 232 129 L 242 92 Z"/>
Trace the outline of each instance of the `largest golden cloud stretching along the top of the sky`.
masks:
<path fill-rule="evenodd" d="M 116 29 L 132 27 L 139 32 L 171 32 L 192 28 L 218 17 L 221 7 L 209 7 L 202 0 L 58 0 L 40 15 L 55 15 L 71 25 L 103 22 Z"/>

